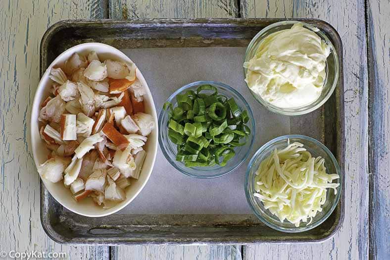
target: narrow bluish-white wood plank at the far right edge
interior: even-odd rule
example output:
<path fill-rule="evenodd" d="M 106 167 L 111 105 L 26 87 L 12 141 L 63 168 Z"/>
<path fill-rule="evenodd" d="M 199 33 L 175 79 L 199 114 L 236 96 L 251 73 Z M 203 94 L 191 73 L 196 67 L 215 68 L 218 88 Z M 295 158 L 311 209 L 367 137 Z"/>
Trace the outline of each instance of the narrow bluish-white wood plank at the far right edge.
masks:
<path fill-rule="evenodd" d="M 370 256 L 390 257 L 390 1 L 367 6 L 370 89 Z"/>

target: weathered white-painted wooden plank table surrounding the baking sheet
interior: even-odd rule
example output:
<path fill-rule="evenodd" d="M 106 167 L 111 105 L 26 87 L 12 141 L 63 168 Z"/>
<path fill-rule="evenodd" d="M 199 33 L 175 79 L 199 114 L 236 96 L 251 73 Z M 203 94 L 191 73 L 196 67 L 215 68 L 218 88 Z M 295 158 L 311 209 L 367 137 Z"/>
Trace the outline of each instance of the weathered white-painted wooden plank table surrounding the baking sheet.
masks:
<path fill-rule="evenodd" d="M 39 216 L 29 118 L 39 44 L 63 19 L 308 17 L 340 33 L 344 52 L 345 218 L 321 244 L 63 246 Z M 0 251 L 65 252 L 72 259 L 389 259 L 389 0 L 0 0 Z"/>

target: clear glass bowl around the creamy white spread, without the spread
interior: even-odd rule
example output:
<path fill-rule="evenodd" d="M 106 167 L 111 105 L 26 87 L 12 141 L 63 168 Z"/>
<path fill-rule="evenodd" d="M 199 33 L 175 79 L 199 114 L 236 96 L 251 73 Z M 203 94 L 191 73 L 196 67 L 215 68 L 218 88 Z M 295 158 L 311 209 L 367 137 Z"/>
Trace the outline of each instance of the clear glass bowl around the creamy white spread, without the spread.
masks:
<path fill-rule="evenodd" d="M 307 114 L 311 111 L 314 111 L 321 105 L 325 104 L 325 102 L 331 97 L 333 94 L 337 82 L 339 80 L 339 73 L 340 73 L 340 64 L 339 64 L 339 56 L 335 50 L 335 47 L 333 46 L 332 42 L 329 40 L 329 38 L 321 32 L 318 28 L 304 23 L 300 21 L 281 21 L 281 22 L 276 22 L 271 25 L 268 25 L 265 27 L 263 30 L 261 30 L 259 33 L 256 34 L 256 36 L 250 41 L 248 47 L 246 48 L 245 52 L 245 60 L 249 61 L 256 53 L 260 43 L 266 38 L 268 35 L 281 31 L 281 30 L 286 30 L 290 29 L 293 27 L 295 23 L 301 23 L 303 24 L 303 27 L 310 29 L 314 33 L 316 33 L 321 40 L 326 42 L 331 47 L 331 53 L 329 54 L 327 61 L 326 61 L 326 78 L 324 82 L 324 88 L 322 90 L 321 96 L 313 103 L 307 104 L 304 106 L 299 106 L 299 107 L 293 107 L 293 108 L 281 108 L 276 105 L 273 105 L 261 98 L 260 95 L 254 93 L 253 91 L 250 90 L 248 87 L 250 93 L 252 93 L 253 97 L 262 105 L 267 107 L 268 110 L 278 113 L 278 114 L 284 114 L 284 115 L 302 115 L 302 114 Z M 247 69 L 244 68 L 244 78 L 246 77 L 246 71 Z M 248 86 L 248 85 L 246 85 Z"/>

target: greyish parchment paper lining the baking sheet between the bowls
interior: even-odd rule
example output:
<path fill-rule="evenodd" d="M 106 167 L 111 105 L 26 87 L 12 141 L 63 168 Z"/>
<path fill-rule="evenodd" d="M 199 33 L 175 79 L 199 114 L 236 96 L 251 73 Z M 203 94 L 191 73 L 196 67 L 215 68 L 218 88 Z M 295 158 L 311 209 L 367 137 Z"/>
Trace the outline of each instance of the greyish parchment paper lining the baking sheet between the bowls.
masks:
<path fill-rule="evenodd" d="M 244 82 L 244 48 L 158 48 L 122 50 L 143 73 L 157 114 L 178 88 L 198 80 L 220 81 L 236 88 L 251 106 L 256 137 L 246 161 L 234 172 L 204 180 L 177 171 L 158 149 L 153 172 L 145 188 L 121 214 L 247 214 L 245 169 L 251 156 L 269 140 L 290 134 L 290 119 L 269 112 L 257 103 Z M 157 122 L 156 122 L 157 123 Z M 131 188 L 131 187 L 130 187 Z"/>

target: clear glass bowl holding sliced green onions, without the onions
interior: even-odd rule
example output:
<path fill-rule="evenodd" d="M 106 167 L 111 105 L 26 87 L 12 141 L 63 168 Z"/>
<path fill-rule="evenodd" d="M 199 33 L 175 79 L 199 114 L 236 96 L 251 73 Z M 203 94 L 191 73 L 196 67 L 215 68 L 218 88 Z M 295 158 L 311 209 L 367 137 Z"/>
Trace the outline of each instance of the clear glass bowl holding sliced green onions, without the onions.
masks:
<path fill-rule="evenodd" d="M 249 107 L 249 104 L 246 103 L 244 97 L 241 96 L 239 92 L 237 92 L 235 89 L 233 89 L 232 87 L 226 84 L 215 82 L 215 81 L 193 82 L 175 91 L 168 98 L 167 102 L 172 103 L 173 107 L 176 107 L 177 106 L 176 95 L 184 94 L 189 90 L 196 91 L 197 87 L 206 84 L 216 87 L 218 90 L 218 94 L 225 95 L 228 98 L 234 98 L 237 105 L 242 110 L 246 109 L 248 111 L 249 121 L 246 123 L 246 125 L 250 128 L 250 135 L 248 136 L 248 139 L 246 140 L 246 144 L 244 146 L 235 148 L 236 155 L 233 158 L 231 158 L 224 167 L 221 167 L 220 165 L 214 165 L 210 167 L 186 167 L 183 162 L 176 160 L 177 146 L 174 143 L 172 143 L 172 141 L 168 137 L 167 126 L 168 126 L 169 114 L 166 110 L 162 109 L 158 117 L 158 127 L 160 130 L 158 142 L 160 143 L 162 153 L 164 154 L 165 158 L 167 158 L 169 163 L 171 163 L 172 166 L 175 167 L 177 170 L 179 170 L 180 172 L 186 175 L 195 178 L 201 178 L 201 179 L 221 177 L 238 168 L 248 157 L 253 146 L 254 134 L 255 134 L 255 127 L 254 127 L 255 123 L 253 119 L 253 113 Z M 211 94 L 212 91 L 202 91 L 202 93 Z"/>

